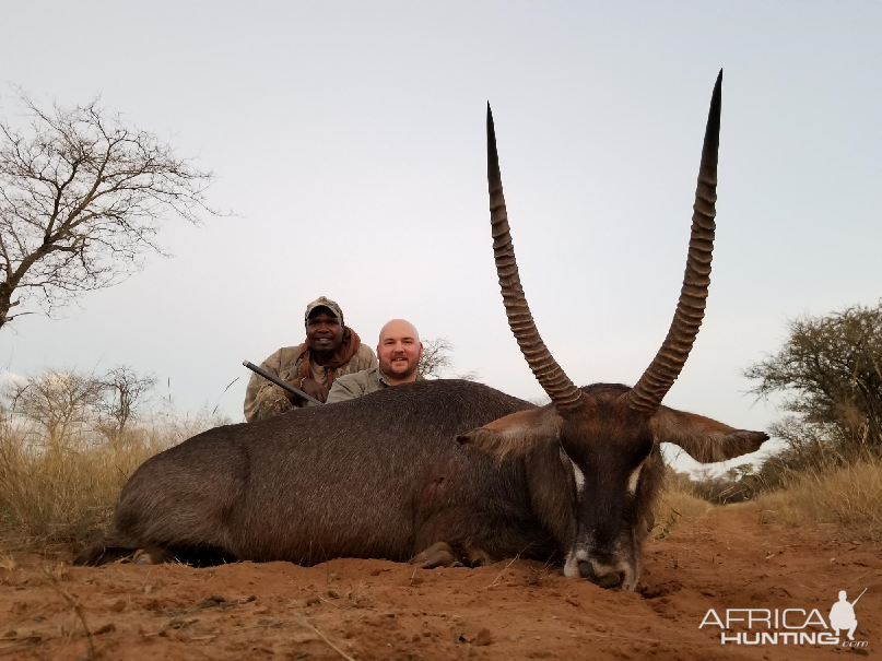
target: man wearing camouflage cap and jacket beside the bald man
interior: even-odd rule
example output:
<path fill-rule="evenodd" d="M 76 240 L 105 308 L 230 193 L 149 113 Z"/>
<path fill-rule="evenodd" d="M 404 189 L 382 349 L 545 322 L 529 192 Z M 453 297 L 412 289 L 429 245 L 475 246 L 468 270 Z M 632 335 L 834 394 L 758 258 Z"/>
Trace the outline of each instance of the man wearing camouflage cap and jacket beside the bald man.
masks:
<path fill-rule="evenodd" d="M 343 323 L 343 310 L 330 298 L 320 296 L 306 306 L 306 341 L 299 346 L 283 346 L 260 364 L 264 370 L 324 402 L 333 380 L 344 374 L 377 365 L 371 347 Z M 266 420 L 305 406 L 263 377 L 252 374 L 245 391 L 245 420 Z"/>

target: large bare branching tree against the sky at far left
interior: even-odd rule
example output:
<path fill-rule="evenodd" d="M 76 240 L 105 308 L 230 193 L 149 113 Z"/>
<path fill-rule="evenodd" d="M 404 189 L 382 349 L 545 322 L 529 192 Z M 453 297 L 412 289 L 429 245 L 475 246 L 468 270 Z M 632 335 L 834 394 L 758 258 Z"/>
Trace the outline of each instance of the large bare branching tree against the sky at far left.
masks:
<path fill-rule="evenodd" d="M 33 314 L 10 314 L 30 299 L 51 314 L 124 280 L 140 255 L 162 253 L 167 215 L 198 224 L 201 212 L 216 214 L 203 196 L 212 173 L 98 98 L 51 110 L 19 98 L 30 129 L 0 120 L 0 328 Z"/>

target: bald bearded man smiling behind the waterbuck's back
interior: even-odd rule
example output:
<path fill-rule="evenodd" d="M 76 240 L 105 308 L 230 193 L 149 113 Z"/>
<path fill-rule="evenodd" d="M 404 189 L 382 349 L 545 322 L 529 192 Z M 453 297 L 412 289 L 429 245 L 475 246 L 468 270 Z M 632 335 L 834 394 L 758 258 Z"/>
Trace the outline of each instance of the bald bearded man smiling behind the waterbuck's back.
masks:
<path fill-rule="evenodd" d="M 336 379 L 327 403 L 354 400 L 384 388 L 422 380 L 419 371 L 422 355 L 423 343 L 413 324 L 404 319 L 392 319 L 379 331 L 379 367 Z"/>

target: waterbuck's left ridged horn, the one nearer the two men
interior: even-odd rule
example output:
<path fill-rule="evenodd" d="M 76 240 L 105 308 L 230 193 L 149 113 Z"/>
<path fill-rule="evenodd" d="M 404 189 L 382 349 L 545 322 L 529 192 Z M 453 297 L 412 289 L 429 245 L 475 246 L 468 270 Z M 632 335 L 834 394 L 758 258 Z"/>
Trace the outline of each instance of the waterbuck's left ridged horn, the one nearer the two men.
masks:
<path fill-rule="evenodd" d="M 496 273 L 499 276 L 499 288 L 503 293 L 505 315 L 508 327 L 518 341 L 520 352 L 536 376 L 542 389 L 551 398 L 554 406 L 561 411 L 578 406 L 581 390 L 573 385 L 557 361 L 539 337 L 536 322 L 527 305 L 527 297 L 520 286 L 518 264 L 515 260 L 515 247 L 508 227 L 508 214 L 505 210 L 503 181 L 499 175 L 499 157 L 496 153 L 496 131 L 493 128 L 493 113 L 487 104 L 487 186 L 490 189 L 490 223 L 493 228 L 493 256 L 496 259 Z"/>

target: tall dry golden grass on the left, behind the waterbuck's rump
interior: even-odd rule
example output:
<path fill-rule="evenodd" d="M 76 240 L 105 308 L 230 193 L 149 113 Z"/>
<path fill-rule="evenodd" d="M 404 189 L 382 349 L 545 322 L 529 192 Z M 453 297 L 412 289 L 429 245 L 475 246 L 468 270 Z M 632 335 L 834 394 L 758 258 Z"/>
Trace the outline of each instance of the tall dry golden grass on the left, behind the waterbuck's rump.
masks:
<path fill-rule="evenodd" d="M 0 552 L 84 545 L 107 526 L 119 491 L 148 458 L 228 421 L 158 414 L 108 444 L 87 427 L 49 438 L 0 418 Z"/>

